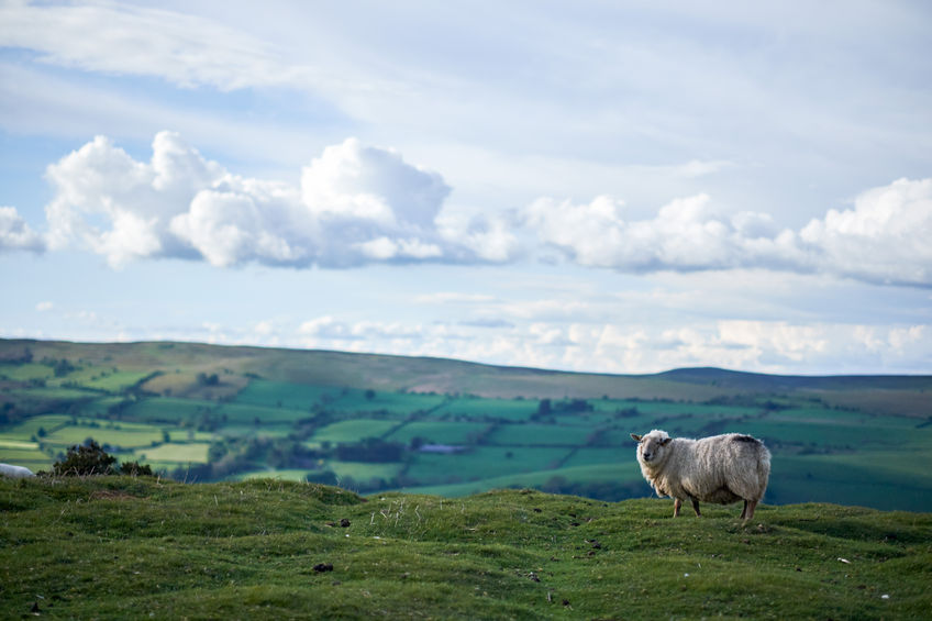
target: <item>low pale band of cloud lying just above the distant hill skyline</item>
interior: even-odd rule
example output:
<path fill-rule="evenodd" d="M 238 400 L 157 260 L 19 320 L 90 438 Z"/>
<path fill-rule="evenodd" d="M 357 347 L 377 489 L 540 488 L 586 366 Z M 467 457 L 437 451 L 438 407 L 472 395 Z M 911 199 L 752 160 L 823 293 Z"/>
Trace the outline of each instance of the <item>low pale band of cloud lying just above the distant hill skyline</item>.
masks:
<path fill-rule="evenodd" d="M 302 325 L 299 343 L 601 373 L 656 373 L 710 364 L 762 373 L 799 368 L 806 373 L 865 373 L 870 368 L 917 373 L 929 364 L 931 335 L 924 324 L 722 320 L 685 328 L 656 322 L 532 321 L 477 328 L 323 317 Z"/>

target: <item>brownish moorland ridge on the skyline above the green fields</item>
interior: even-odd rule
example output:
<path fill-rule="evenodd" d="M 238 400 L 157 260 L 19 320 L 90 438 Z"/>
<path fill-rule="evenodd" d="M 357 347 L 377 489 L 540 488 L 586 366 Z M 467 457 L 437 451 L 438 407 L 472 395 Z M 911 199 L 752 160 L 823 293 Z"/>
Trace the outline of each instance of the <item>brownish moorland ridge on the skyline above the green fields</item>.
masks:
<path fill-rule="evenodd" d="M 612 375 L 493 366 L 446 358 L 287 350 L 199 343 L 71 343 L 0 339 L 0 364 L 67 358 L 89 364 L 158 373 L 143 388 L 170 385 L 198 390 L 198 373 L 253 374 L 265 379 L 411 392 L 458 392 L 479 397 L 708 400 L 753 393 L 806 391 L 850 404 L 836 392 L 883 390 L 885 411 L 932 414 L 932 375 L 784 376 L 720 368 L 685 368 L 658 374 Z M 165 378 L 162 376 L 180 376 Z M 189 386 L 185 386 L 185 382 Z M 224 391 L 225 392 L 225 391 Z M 917 399 L 917 396 L 921 397 Z"/>

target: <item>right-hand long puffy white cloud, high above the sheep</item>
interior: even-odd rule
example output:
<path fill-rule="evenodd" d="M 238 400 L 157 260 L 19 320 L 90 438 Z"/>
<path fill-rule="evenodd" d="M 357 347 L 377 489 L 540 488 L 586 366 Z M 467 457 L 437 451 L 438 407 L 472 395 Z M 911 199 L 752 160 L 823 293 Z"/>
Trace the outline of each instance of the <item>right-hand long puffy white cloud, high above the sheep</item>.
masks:
<path fill-rule="evenodd" d="M 718 214 L 708 195 L 676 199 L 650 220 L 624 203 L 540 198 L 521 212 L 545 246 L 588 267 L 620 271 L 766 268 L 831 274 L 872 284 L 932 286 L 932 179 L 900 179 L 862 193 L 799 231 L 767 213 Z"/>

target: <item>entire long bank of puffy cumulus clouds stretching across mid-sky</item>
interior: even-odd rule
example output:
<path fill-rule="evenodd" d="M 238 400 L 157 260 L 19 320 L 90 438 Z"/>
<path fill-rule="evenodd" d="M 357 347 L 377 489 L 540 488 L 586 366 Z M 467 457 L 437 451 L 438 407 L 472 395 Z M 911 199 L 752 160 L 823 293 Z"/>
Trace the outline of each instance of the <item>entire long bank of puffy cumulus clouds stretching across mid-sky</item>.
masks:
<path fill-rule="evenodd" d="M 370 263 L 506 263 L 535 246 L 587 267 L 643 274 L 763 268 L 872 284 L 932 286 L 932 179 L 870 189 L 853 208 L 800 230 L 770 214 L 724 213 L 704 193 L 630 218 L 609 196 L 540 198 L 521 210 L 467 217 L 444 210 L 443 177 L 401 154 L 348 138 L 302 169 L 299 187 L 245 178 L 173 132 L 138 162 L 104 136 L 47 169 L 47 244 L 71 244 L 114 267 L 140 258 L 218 267 L 354 267 Z M 0 249 L 46 242 L 0 208 Z"/>

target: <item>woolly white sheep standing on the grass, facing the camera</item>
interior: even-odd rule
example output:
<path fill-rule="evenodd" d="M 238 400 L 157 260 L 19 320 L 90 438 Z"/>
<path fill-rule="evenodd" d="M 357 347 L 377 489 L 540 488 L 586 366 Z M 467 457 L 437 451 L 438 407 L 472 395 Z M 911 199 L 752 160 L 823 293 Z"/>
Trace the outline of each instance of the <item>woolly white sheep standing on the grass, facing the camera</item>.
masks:
<path fill-rule="evenodd" d="M 718 504 L 744 500 L 741 519 L 747 522 L 754 517 L 770 476 L 770 452 L 759 440 L 740 433 L 673 439 L 658 430 L 631 437 L 637 441 L 641 474 L 657 496 L 674 498 L 674 518 L 684 500 L 692 502 L 696 515 L 701 515 L 700 500 Z"/>

